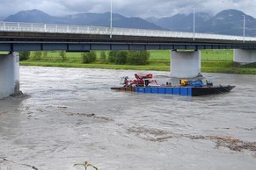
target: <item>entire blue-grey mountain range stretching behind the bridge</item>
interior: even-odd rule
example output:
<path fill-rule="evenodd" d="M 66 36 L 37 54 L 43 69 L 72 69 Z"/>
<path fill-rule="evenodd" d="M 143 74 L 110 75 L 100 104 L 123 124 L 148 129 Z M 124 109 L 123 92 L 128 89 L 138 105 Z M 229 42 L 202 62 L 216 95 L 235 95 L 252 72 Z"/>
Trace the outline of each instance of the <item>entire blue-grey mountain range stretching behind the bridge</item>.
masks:
<path fill-rule="evenodd" d="M 205 32 L 225 35 L 243 35 L 245 16 L 245 36 L 256 36 L 256 19 L 242 11 L 225 10 L 210 16 L 207 13 L 177 14 L 167 18 L 127 18 L 113 13 L 113 27 L 139 28 L 150 30 L 170 30 L 175 32 Z M 195 18 L 195 19 L 194 19 Z M 19 11 L 5 18 L 9 22 L 47 23 L 58 25 L 109 26 L 110 12 L 77 13 L 55 17 L 39 10 Z M 194 22 L 195 21 L 195 22 Z M 195 25 L 195 26 L 194 26 Z"/>

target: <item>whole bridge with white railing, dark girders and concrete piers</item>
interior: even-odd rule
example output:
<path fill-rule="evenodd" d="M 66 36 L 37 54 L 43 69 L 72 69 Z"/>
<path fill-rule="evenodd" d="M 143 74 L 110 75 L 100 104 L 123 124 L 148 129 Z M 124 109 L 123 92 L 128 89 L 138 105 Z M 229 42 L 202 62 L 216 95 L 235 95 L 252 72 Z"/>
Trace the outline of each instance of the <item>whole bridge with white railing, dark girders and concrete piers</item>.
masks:
<path fill-rule="evenodd" d="M 19 89 L 18 53 L 15 52 L 159 49 L 172 50 L 171 74 L 174 77 L 194 77 L 201 72 L 201 49 L 235 49 L 234 61 L 256 62 L 254 37 L 0 22 L 0 51 L 10 52 L 0 55 L 0 98 L 16 93 Z"/>

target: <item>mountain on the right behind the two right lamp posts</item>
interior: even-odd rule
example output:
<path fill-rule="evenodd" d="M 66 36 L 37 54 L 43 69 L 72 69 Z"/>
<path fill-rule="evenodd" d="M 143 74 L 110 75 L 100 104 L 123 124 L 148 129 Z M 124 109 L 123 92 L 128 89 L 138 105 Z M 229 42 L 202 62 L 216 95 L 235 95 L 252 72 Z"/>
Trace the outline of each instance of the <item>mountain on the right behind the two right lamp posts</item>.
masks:
<path fill-rule="evenodd" d="M 256 36 L 256 19 L 237 10 L 221 11 L 213 17 L 207 13 L 196 13 L 195 32 L 243 35 L 243 15 L 245 15 L 245 35 Z M 147 18 L 147 20 L 168 30 L 193 32 L 193 18 L 193 14 L 178 14 L 170 18 Z"/>

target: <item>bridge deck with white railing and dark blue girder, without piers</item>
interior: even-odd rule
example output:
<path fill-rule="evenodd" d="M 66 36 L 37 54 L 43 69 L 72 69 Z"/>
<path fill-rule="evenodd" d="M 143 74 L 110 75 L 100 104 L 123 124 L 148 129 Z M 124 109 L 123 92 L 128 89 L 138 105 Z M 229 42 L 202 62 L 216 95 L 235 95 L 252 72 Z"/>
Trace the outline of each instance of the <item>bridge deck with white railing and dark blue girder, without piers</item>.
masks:
<path fill-rule="evenodd" d="M 151 49 L 256 49 L 256 38 L 193 32 L 0 22 L 0 51 Z"/>

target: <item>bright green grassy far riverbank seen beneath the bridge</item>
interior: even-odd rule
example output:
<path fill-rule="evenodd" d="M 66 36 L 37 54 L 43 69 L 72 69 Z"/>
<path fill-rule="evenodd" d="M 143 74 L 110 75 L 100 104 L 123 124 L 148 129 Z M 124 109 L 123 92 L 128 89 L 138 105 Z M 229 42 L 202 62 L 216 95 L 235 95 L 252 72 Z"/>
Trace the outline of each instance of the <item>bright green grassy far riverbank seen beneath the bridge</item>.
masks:
<path fill-rule="evenodd" d="M 97 57 L 99 58 L 97 52 Z M 108 52 L 106 52 L 107 54 Z M 33 53 L 31 53 L 33 56 Z M 249 67 L 238 67 L 233 63 L 233 50 L 202 50 L 201 51 L 201 72 L 205 73 L 229 73 L 229 74 L 256 74 L 255 65 Z M 114 65 L 96 61 L 91 64 L 83 64 L 81 53 L 67 53 L 67 60 L 63 61 L 59 53 L 48 52 L 47 58 L 40 60 L 20 61 L 23 66 L 42 67 L 87 67 L 103 69 L 135 69 L 135 70 L 157 70 L 170 71 L 170 51 L 150 51 L 150 63 L 146 66 Z"/>

